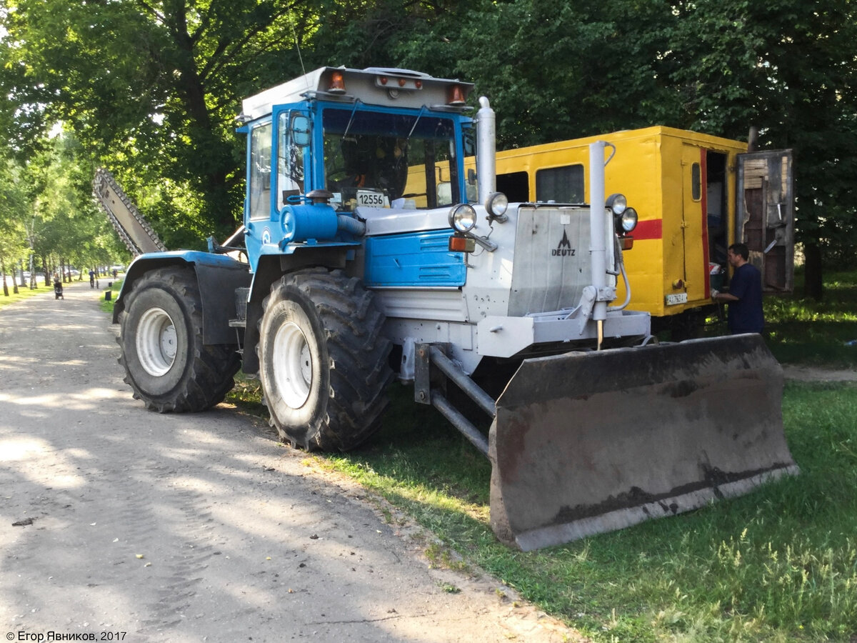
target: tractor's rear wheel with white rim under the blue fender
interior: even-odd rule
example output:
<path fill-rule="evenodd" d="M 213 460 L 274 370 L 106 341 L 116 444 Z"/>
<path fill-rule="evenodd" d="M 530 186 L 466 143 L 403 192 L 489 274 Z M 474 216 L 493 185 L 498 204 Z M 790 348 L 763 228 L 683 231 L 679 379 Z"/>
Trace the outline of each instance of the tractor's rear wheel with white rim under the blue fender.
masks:
<path fill-rule="evenodd" d="M 223 401 L 241 365 L 235 346 L 202 340 L 202 303 L 189 268 L 153 270 L 137 280 L 120 315 L 119 364 L 147 409 L 204 411 Z"/>

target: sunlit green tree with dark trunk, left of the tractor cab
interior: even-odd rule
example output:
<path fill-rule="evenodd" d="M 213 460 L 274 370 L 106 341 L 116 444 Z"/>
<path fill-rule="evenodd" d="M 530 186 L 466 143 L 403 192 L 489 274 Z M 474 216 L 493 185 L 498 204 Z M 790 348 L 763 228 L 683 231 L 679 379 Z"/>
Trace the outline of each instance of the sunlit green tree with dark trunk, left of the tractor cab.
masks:
<path fill-rule="evenodd" d="M 300 69 L 292 21 L 313 21 L 308 9 L 273 0 L 5 0 L 4 84 L 27 111 L 66 123 L 132 195 L 158 201 L 148 214 L 162 237 L 199 245 L 201 230 L 237 224 L 240 98 Z"/>

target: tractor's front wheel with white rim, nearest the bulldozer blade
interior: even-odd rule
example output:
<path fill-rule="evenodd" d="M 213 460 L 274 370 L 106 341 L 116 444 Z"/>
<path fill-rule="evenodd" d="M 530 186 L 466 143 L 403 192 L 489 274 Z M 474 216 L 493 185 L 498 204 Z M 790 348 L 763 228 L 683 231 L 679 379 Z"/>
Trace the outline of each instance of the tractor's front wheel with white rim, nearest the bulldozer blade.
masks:
<path fill-rule="evenodd" d="M 341 271 L 314 268 L 279 279 L 262 306 L 261 387 L 279 436 L 345 451 L 374 434 L 393 371 L 372 293 Z"/>

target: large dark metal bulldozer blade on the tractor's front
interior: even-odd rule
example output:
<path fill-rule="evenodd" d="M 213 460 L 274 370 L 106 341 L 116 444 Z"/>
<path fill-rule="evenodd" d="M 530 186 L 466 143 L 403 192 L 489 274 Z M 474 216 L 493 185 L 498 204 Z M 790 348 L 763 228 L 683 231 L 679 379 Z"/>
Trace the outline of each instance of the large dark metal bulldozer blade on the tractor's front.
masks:
<path fill-rule="evenodd" d="M 524 360 L 488 435 L 494 533 L 534 550 L 796 475 L 781 402 L 759 335 Z"/>

